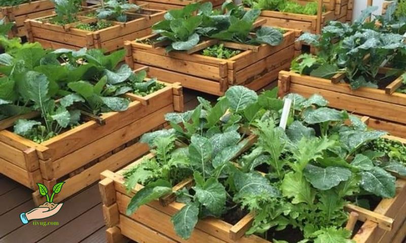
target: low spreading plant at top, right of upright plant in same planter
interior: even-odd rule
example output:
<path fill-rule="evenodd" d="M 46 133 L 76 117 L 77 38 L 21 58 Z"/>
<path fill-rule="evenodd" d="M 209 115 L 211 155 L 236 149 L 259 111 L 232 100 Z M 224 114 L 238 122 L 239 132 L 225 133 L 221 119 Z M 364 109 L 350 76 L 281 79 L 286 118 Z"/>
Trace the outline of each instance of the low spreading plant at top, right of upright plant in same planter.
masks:
<path fill-rule="evenodd" d="M 96 10 L 99 19 L 116 19 L 119 22 L 127 22 L 125 12 L 139 10 L 135 4 L 128 4 L 125 0 L 109 0 L 103 7 Z"/>

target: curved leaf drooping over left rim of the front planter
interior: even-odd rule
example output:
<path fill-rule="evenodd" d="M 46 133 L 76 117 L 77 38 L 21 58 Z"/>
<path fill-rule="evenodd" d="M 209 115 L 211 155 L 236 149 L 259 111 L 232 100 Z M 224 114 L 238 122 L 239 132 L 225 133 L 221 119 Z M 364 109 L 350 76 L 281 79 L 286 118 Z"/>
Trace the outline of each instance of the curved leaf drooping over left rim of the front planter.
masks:
<path fill-rule="evenodd" d="M 164 180 L 158 180 L 150 183 L 139 190 L 130 200 L 127 206 L 127 215 L 136 212 L 142 205 L 148 204 L 151 201 L 158 199 L 161 196 L 172 193 L 171 184 Z"/>

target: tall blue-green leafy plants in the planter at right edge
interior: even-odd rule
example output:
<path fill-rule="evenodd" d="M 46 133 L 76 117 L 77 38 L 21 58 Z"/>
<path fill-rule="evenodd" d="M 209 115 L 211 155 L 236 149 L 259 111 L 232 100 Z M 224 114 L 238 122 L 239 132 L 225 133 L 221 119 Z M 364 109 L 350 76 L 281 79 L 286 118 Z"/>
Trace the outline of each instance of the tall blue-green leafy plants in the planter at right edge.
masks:
<path fill-rule="evenodd" d="M 364 10 L 352 25 L 332 21 L 323 28 L 321 35 L 301 35 L 298 41 L 316 47 L 318 54 L 299 56 L 292 62 L 291 70 L 323 78 L 345 73 L 346 82 L 353 89 L 378 88 L 381 82 L 379 68 L 403 54 L 405 44 L 402 35 L 380 31 L 375 23 L 365 22 L 375 9 Z M 394 74 L 389 73 L 389 76 Z"/>

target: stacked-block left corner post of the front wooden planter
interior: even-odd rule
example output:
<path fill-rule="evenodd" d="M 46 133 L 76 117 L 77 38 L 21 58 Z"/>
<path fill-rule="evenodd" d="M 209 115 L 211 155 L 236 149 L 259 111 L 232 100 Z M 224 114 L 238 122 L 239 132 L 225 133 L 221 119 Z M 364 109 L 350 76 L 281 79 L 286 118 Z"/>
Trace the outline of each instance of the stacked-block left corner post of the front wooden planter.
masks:
<path fill-rule="evenodd" d="M 119 212 L 116 203 L 116 190 L 114 181 L 111 178 L 105 178 L 98 183 L 98 189 L 103 203 L 103 216 L 108 228 L 115 227 L 119 224 Z"/>

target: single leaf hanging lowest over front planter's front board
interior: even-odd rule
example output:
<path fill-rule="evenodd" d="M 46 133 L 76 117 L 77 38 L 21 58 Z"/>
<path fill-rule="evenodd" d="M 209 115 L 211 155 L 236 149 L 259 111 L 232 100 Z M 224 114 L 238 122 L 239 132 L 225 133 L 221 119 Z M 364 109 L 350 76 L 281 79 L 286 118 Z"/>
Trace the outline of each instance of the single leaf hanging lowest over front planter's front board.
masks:
<path fill-rule="evenodd" d="M 183 239 L 188 239 L 198 221 L 198 215 L 199 205 L 197 203 L 185 205 L 179 212 L 174 214 L 171 219 L 176 233 Z"/>

